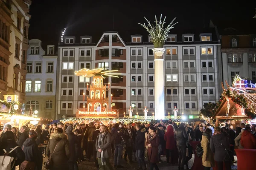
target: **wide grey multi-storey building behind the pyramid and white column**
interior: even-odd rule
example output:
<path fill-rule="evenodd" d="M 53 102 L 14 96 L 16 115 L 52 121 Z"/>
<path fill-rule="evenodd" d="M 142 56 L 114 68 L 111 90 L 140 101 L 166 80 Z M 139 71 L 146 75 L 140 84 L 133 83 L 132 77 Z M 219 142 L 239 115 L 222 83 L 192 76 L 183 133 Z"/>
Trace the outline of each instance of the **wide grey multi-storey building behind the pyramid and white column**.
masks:
<path fill-rule="evenodd" d="M 198 34 L 170 34 L 164 45 L 165 114 L 198 116 L 203 105 L 219 99 L 221 57 L 219 36 L 215 28 Z M 187 32 L 186 32 L 187 33 Z M 63 36 L 58 47 L 57 118 L 72 117 L 87 107 L 87 83 L 90 78 L 77 77 L 74 71 L 81 68 L 119 70 L 118 78 L 107 77 L 104 84 L 110 89 L 113 109 L 122 114 L 131 106 L 134 113 L 148 116 L 154 112 L 154 48 L 151 38 L 131 35 L 122 39 L 117 32 L 104 32 L 99 41 L 92 37 Z M 221 63 L 220 63 L 221 64 Z M 72 78 L 70 78 L 72 77 Z M 67 81 L 67 80 L 71 81 Z M 85 92 L 85 99 L 83 93 Z M 110 101 L 111 102 L 111 101 Z"/>

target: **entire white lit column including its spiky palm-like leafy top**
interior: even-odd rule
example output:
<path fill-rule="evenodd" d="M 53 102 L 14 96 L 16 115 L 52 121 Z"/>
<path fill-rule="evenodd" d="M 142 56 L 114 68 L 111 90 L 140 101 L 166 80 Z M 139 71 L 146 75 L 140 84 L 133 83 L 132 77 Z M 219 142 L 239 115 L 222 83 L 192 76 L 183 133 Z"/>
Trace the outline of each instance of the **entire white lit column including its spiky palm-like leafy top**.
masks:
<path fill-rule="evenodd" d="M 145 18 L 146 19 L 146 18 Z M 155 103 L 155 115 L 157 119 L 164 119 L 165 116 L 165 106 L 164 106 L 164 74 L 163 74 L 163 54 L 165 48 L 163 45 L 167 40 L 168 33 L 173 28 L 176 23 L 172 22 L 164 27 L 165 19 L 162 21 L 162 14 L 160 16 L 160 20 L 157 21 L 157 17 L 155 16 L 155 26 L 148 21 L 148 25 L 140 24 L 145 28 L 151 36 L 151 39 L 154 44 L 154 48 L 152 49 L 154 52 L 154 103 Z"/>

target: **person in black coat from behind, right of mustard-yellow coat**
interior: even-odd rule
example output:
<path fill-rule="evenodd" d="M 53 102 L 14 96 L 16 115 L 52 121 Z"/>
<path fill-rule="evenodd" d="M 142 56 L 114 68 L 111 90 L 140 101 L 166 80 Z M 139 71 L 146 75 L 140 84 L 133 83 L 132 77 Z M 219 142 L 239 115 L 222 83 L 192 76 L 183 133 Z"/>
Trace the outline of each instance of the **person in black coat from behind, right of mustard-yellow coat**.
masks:
<path fill-rule="evenodd" d="M 217 162 L 218 170 L 223 170 L 223 162 L 225 162 L 226 170 L 231 170 L 230 156 L 226 151 L 230 150 L 230 143 L 227 135 L 221 133 L 220 127 L 215 127 L 210 140 L 210 148 L 214 153 L 214 160 Z"/>

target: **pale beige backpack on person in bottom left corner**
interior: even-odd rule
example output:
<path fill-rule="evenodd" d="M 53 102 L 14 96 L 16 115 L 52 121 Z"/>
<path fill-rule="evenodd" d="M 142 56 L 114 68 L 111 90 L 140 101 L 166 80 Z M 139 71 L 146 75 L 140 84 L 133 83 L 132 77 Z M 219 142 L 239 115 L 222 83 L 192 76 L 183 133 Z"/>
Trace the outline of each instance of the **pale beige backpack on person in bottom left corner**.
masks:
<path fill-rule="evenodd" d="M 15 158 L 8 156 L 8 155 L 12 151 L 14 151 L 17 147 L 19 147 L 19 146 L 16 146 L 12 150 L 10 150 L 10 152 L 6 152 L 6 150 L 3 149 L 4 155 L 0 156 L 0 170 L 12 170 L 12 167 L 15 164 Z"/>

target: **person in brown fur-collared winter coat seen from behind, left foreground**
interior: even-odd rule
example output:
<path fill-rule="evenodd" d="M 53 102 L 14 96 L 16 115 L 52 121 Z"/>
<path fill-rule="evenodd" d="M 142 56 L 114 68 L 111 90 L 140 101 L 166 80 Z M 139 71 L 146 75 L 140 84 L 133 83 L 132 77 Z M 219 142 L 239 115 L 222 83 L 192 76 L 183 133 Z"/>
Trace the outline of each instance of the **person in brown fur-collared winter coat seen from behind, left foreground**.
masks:
<path fill-rule="evenodd" d="M 55 149 L 56 147 L 56 149 Z M 54 153 L 53 150 L 55 149 Z M 59 127 L 55 128 L 50 136 L 47 145 L 46 155 L 52 156 L 52 167 L 50 170 L 66 170 L 70 157 L 70 146 L 67 140 L 67 135 Z"/>

